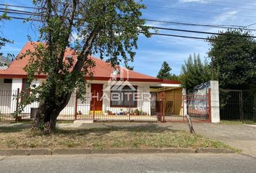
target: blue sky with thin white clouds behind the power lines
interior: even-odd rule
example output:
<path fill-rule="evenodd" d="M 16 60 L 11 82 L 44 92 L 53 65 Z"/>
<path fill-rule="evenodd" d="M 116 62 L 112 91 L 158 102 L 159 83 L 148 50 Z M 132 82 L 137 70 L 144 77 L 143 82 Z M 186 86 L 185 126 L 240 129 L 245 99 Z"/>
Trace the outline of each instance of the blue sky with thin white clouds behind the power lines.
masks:
<path fill-rule="evenodd" d="M 256 0 L 145 0 L 142 3 L 147 6 L 147 9 L 142 10 L 145 19 L 207 25 L 239 25 L 244 27 L 256 22 Z M 32 6 L 30 0 L 0 0 L 0 4 Z M 22 8 L 16 9 L 23 10 Z M 204 32 L 223 30 L 216 27 L 172 25 L 163 22 L 147 22 L 147 25 Z M 256 29 L 256 24 L 250 26 L 250 28 Z M 163 30 L 158 32 L 195 37 L 210 36 L 190 32 Z M 36 40 L 38 32 L 29 23 L 12 19 L 1 23 L 0 33 L 2 36 L 14 41 L 13 44 L 8 44 L 2 48 L 1 51 L 4 55 L 7 53 L 17 55 L 27 43 L 27 35 Z M 256 35 L 256 32 L 252 32 L 252 35 Z M 134 70 L 142 74 L 156 76 L 163 61 L 167 61 L 171 66 L 171 74 L 180 74 L 182 64 L 187 60 L 189 54 L 200 53 L 202 59 L 208 58 L 207 53 L 210 45 L 204 40 L 160 35 L 146 38 L 140 35 L 138 47 L 135 61 L 130 63 L 129 66 L 134 66 Z"/>

